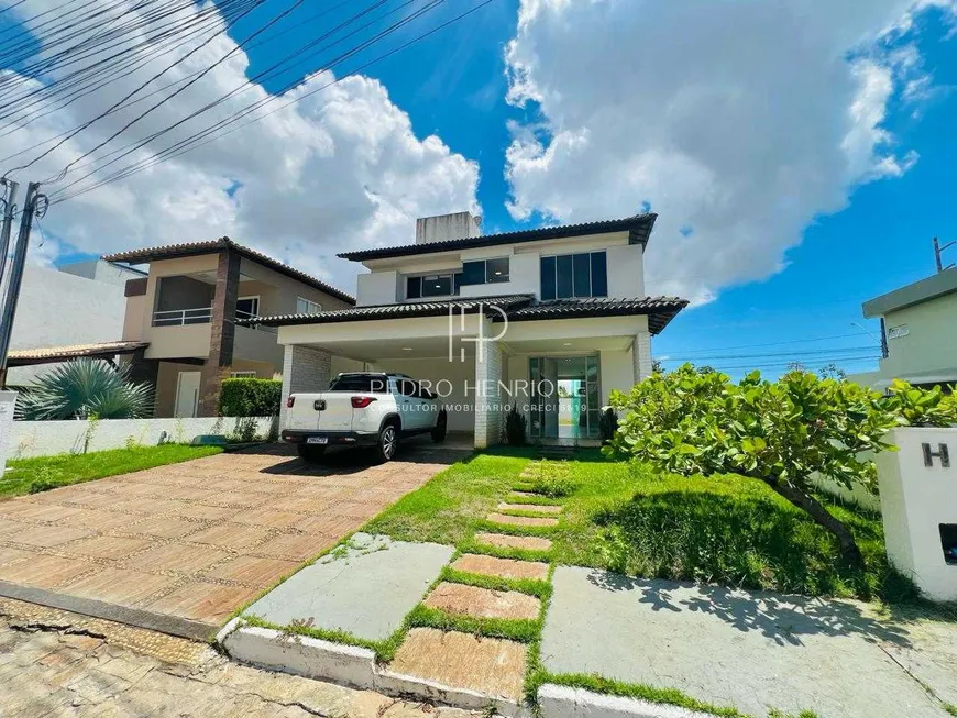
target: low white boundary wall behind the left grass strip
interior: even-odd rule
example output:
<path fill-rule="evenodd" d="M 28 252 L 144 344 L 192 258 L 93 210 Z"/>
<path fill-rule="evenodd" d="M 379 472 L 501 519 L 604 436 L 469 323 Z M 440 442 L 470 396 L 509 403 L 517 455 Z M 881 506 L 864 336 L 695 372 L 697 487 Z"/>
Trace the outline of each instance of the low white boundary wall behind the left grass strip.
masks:
<path fill-rule="evenodd" d="M 200 434 L 231 434 L 241 419 L 207 417 L 198 419 L 102 419 L 90 422 L 14 421 L 7 449 L 8 459 L 31 459 L 86 451 L 123 449 L 129 444 L 155 446 L 165 441 L 189 443 Z M 256 434 L 270 433 L 272 419 L 258 417 Z"/>

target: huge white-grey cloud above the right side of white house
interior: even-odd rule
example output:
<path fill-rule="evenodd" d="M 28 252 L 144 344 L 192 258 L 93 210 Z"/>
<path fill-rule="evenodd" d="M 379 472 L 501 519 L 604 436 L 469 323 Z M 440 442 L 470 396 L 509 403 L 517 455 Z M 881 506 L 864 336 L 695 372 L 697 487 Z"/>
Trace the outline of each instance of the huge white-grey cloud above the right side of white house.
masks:
<path fill-rule="evenodd" d="M 914 13 L 952 0 L 522 0 L 506 49 L 509 210 L 660 216 L 652 291 L 706 301 L 785 266 L 815 217 L 917 157 L 884 129 L 928 79 Z"/>

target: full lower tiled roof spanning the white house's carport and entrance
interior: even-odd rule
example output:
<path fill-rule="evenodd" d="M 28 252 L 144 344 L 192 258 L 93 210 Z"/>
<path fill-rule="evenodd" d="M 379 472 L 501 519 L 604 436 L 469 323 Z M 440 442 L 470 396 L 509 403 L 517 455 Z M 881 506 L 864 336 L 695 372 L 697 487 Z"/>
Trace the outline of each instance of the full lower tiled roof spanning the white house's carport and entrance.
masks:
<path fill-rule="evenodd" d="M 332 324 L 349 321 L 373 321 L 376 319 L 406 319 L 409 317 L 440 317 L 450 307 L 463 309 L 466 313 L 477 312 L 481 308 L 498 307 L 505 310 L 508 321 L 534 321 L 546 319 L 581 319 L 591 317 L 634 317 L 648 316 L 648 329 L 652 334 L 664 329 L 674 317 L 688 306 L 688 300 L 678 297 L 645 297 L 642 299 L 556 299 L 536 302 L 532 295 L 510 295 L 507 297 L 475 297 L 442 299 L 399 305 L 377 305 L 322 311 L 316 314 L 280 314 L 278 317 L 257 317 L 241 319 L 238 324 L 265 324 L 287 327 L 292 324 Z M 504 321 L 497 311 L 486 311 L 494 321 Z"/>

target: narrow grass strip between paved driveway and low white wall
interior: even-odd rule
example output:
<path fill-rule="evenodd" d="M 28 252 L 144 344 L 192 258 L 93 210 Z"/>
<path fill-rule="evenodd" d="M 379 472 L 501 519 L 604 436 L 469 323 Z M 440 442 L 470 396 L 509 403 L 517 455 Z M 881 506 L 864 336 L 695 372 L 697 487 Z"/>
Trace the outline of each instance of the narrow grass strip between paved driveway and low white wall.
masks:
<path fill-rule="evenodd" d="M 19 459 L 7 463 L 7 473 L 0 477 L 0 498 L 37 494 L 106 476 L 165 464 L 178 464 L 191 459 L 218 454 L 221 451 L 219 446 L 163 444 L 97 451 L 89 454 Z"/>

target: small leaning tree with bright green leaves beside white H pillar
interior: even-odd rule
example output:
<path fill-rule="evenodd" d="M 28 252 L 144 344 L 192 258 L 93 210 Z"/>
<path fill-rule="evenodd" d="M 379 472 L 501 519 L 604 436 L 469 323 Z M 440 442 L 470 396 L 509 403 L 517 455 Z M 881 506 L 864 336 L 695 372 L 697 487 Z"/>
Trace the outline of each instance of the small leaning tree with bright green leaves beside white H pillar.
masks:
<path fill-rule="evenodd" d="M 842 553 L 861 561 L 854 535 L 812 495 L 814 473 L 850 488 L 872 487 L 876 467 L 865 451 L 893 449 L 882 437 L 911 423 L 902 407 L 920 404 L 895 385 L 883 397 L 858 384 L 822 379 L 792 371 L 778 382 L 758 372 L 734 384 L 725 374 L 700 374 L 690 365 L 652 375 L 627 395 L 614 393 L 612 405 L 625 418 L 606 451 L 653 462 L 679 474 L 735 473 L 766 483 L 806 511 L 840 543 Z M 924 393 L 922 393 L 923 396 Z M 957 420 L 955 405 L 943 394 L 919 413 L 938 424 Z"/>

